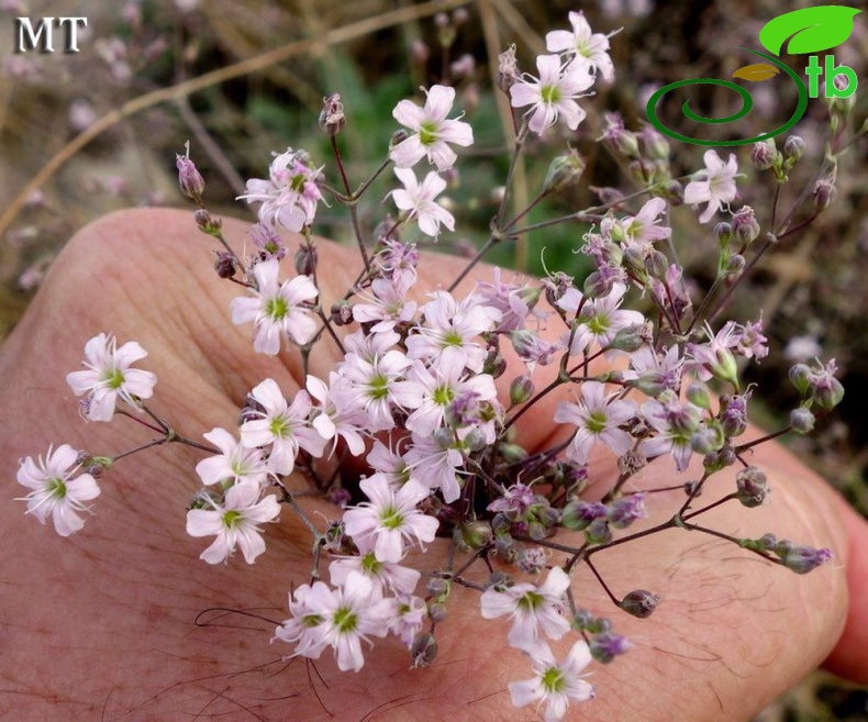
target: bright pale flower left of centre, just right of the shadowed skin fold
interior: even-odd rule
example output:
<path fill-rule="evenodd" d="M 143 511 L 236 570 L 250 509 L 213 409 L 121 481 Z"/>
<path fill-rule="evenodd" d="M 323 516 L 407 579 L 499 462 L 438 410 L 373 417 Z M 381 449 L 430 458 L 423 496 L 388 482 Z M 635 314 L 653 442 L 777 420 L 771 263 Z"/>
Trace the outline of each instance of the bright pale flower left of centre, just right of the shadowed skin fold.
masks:
<path fill-rule="evenodd" d="M 271 471 L 290 474 L 299 448 L 311 456 L 322 456 L 325 440 L 308 421 L 311 399 L 307 391 L 299 391 L 290 406 L 277 381 L 267 378 L 251 391 L 251 396 L 264 411 L 254 412 L 257 418 L 242 424 L 241 443 L 248 448 L 270 444 L 268 468 Z"/>

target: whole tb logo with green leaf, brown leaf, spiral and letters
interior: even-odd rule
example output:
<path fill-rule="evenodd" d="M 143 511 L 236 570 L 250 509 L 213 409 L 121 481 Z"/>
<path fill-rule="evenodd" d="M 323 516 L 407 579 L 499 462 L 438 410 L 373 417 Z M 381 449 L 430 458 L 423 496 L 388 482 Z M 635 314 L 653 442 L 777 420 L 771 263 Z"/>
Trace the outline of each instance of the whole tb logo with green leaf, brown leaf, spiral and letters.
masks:
<path fill-rule="evenodd" d="M 804 73 L 809 79 L 808 86 L 805 86 L 799 74 L 779 58 L 784 43 L 787 43 L 787 52 L 790 55 L 815 54 L 830 51 L 844 43 L 850 36 L 850 33 L 853 33 L 853 19 L 860 12 L 861 10 L 854 10 L 845 5 L 823 5 L 821 8 L 793 10 L 792 12 L 774 18 L 759 31 L 759 43 L 768 53 L 753 51 L 748 47 L 742 48 L 766 62 L 755 63 L 738 68 L 733 73 L 734 78 L 747 80 L 749 82 L 761 82 L 780 76 L 782 73 L 795 84 L 799 91 L 799 100 L 792 115 L 774 131 L 737 141 L 709 141 L 689 137 L 669 130 L 660 122 L 659 118 L 657 118 L 657 103 L 667 92 L 677 88 L 700 85 L 723 86 L 724 88 L 734 90 L 742 99 L 742 108 L 726 118 L 705 118 L 694 113 L 690 109 L 690 101 L 686 100 L 681 105 L 681 113 L 689 120 L 695 121 L 697 123 L 721 124 L 732 123 L 747 115 L 754 104 L 750 93 L 735 82 L 719 80 L 716 78 L 678 80 L 677 82 L 670 82 L 668 86 L 664 86 L 648 99 L 648 103 L 645 107 L 648 120 L 652 125 L 664 135 L 668 135 L 676 141 L 692 143 L 694 145 L 749 145 L 786 133 L 801 120 L 802 115 L 804 115 L 805 110 L 808 110 L 808 99 L 817 98 L 820 96 L 820 78 L 824 74 L 826 98 L 849 98 L 856 92 L 858 79 L 852 68 L 848 68 L 846 65 L 835 65 L 835 58 L 832 55 L 825 56 L 825 63 L 823 65 L 820 64 L 817 55 L 811 55 L 808 67 L 804 68 Z M 841 87 L 843 84 L 839 79 L 846 79 L 845 87 Z"/>

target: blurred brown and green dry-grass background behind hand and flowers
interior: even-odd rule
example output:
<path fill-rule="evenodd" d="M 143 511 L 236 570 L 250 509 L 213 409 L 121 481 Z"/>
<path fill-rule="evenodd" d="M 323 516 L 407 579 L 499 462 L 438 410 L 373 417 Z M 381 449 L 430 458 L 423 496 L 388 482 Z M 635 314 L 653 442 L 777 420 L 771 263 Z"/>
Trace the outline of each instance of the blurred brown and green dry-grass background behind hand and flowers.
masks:
<path fill-rule="evenodd" d="M 37 2 L 0 0 L 0 340 L 14 326 L 58 249 L 76 230 L 99 215 L 131 206 L 185 206 L 177 187 L 175 154 L 190 141 L 191 157 L 205 178 L 213 214 L 255 216 L 234 198 L 245 180 L 265 177 L 271 152 L 305 148 L 318 165 L 329 163 L 329 140 L 318 127 L 323 97 L 337 92 L 347 125 L 340 136 L 350 182 L 357 185 L 385 158 L 398 129 L 391 110 L 419 87 L 447 82 L 474 125 L 476 144 L 459 154 L 447 195 L 458 233 L 441 249 L 472 254 L 485 240 L 503 182 L 503 153 L 512 134 L 505 96 L 492 86 L 497 54 L 516 45 L 522 70 L 534 71 L 545 33 L 569 29 L 568 11 L 582 10 L 594 32 L 612 33 L 615 80 L 594 86 L 582 103 L 588 119 L 579 131 L 532 142 L 516 176 L 516 197 L 533 198 L 548 163 L 564 141 L 587 162 L 582 182 L 546 200 L 530 214 L 534 223 L 599 202 L 597 189 L 639 188 L 623 157 L 603 143 L 604 113 L 620 113 L 627 129 L 646 120 L 647 98 L 663 85 L 687 78 L 730 79 L 755 63 L 742 48 L 761 49 L 760 27 L 783 12 L 806 7 L 786 0 L 141 0 L 138 2 Z M 817 4 L 817 3 L 812 3 Z M 858 3 L 852 3 L 858 7 Z M 16 18 L 87 18 L 77 31 L 78 53 L 64 53 L 66 31 L 54 27 L 54 53 L 16 52 Z M 67 27 L 70 23 L 67 23 Z M 786 57 L 786 56 L 784 56 Z M 834 49 L 837 65 L 868 84 L 868 16 L 857 15 L 853 34 Z M 493 60 L 492 60 L 493 58 Z M 804 56 L 786 62 L 803 75 Z M 754 110 L 717 130 L 715 138 L 750 137 L 784 120 L 795 95 L 786 78 L 748 88 Z M 725 89 L 705 87 L 695 110 L 711 116 L 737 110 Z M 864 90 L 836 112 L 838 142 L 866 121 Z M 680 104 L 681 100 L 678 101 Z M 735 103 L 735 104 L 734 104 Z M 664 120 L 691 135 L 678 104 Z M 811 100 L 791 131 L 806 152 L 779 200 L 793 225 L 812 215 L 810 192 L 823 167 L 830 108 Z M 726 135 L 730 133 L 731 135 Z M 787 136 L 782 135 L 779 146 Z M 803 230 L 788 236 L 757 265 L 730 313 L 755 320 L 763 309 L 771 353 L 753 371 L 760 385 L 756 421 L 781 425 L 798 403 L 787 381 L 790 365 L 836 358 L 846 389 L 843 404 L 809 437 L 786 441 L 817 468 L 863 514 L 868 512 L 868 422 L 859 401 L 868 393 L 868 143 L 854 142 L 838 160 L 834 203 Z M 672 142 L 674 177 L 703 166 L 704 148 Z M 727 148 L 720 149 L 726 157 Z M 757 171 L 749 147 L 734 148 L 741 193 L 768 230 L 775 182 Z M 334 185 L 337 185 L 336 179 Z M 388 179 L 387 179 L 388 180 Z M 379 200 L 385 180 L 371 189 Z M 734 204 L 737 208 L 738 203 Z M 370 232 L 382 218 L 378 202 L 363 211 Z M 192 211 L 192 208 L 191 208 Z M 698 290 L 716 271 L 717 243 L 689 210 L 672 213 L 680 262 Z M 492 260 L 541 273 L 581 275 L 572 252 L 578 224 L 530 234 L 497 248 Z M 316 231 L 348 238 L 340 207 L 322 209 Z M 509 247 L 508 247 L 509 246 Z M 543 249 L 545 255 L 543 256 Z M 868 693 L 817 673 L 766 710 L 758 722 L 868 720 Z"/>

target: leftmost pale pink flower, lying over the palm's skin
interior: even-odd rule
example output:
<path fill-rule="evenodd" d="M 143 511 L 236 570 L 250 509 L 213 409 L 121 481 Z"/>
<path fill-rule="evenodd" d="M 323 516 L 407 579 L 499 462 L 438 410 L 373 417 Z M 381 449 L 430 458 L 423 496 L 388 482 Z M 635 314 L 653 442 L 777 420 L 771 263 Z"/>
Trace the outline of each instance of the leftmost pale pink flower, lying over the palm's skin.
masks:
<path fill-rule="evenodd" d="M 85 525 L 78 515 L 87 511 L 84 503 L 100 496 L 100 488 L 90 474 L 73 478 L 78 470 L 78 452 L 69 444 L 55 451 L 48 448 L 47 458 L 34 462 L 27 456 L 18 470 L 18 482 L 33 489 L 18 501 L 27 502 L 27 513 L 44 524 L 48 514 L 54 529 L 60 536 L 69 536 Z"/>

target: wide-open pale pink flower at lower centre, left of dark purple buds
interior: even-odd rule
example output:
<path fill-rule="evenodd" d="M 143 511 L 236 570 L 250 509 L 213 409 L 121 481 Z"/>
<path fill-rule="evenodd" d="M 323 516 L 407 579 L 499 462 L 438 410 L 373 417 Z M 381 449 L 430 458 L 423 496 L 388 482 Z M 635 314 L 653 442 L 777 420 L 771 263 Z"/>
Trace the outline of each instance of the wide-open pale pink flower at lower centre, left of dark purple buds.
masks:
<path fill-rule="evenodd" d="M 404 538 L 415 538 L 420 545 L 434 541 L 437 520 L 416 509 L 429 496 L 422 484 L 411 478 L 396 490 L 386 477 L 375 474 L 359 486 L 369 501 L 344 512 L 344 529 L 354 541 L 372 546 L 378 560 L 400 562 Z"/>

